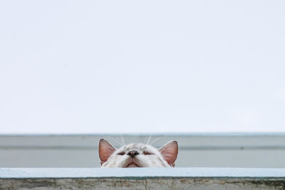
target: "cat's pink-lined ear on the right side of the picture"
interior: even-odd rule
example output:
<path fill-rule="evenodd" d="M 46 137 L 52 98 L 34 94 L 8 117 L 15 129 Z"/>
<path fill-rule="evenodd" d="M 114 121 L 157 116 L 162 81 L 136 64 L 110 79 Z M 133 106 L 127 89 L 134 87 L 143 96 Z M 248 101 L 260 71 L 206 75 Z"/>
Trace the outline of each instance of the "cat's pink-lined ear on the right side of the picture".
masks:
<path fill-rule="evenodd" d="M 170 167 L 175 167 L 175 160 L 177 159 L 178 154 L 178 143 L 176 141 L 168 142 L 158 150 L 165 161 L 170 164 Z"/>

